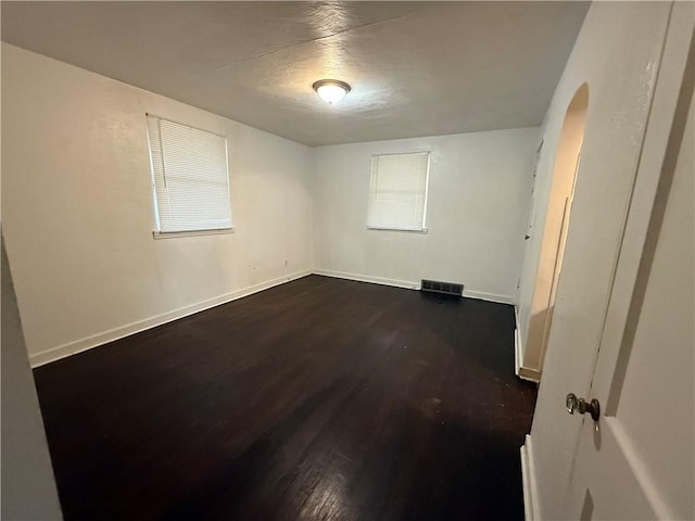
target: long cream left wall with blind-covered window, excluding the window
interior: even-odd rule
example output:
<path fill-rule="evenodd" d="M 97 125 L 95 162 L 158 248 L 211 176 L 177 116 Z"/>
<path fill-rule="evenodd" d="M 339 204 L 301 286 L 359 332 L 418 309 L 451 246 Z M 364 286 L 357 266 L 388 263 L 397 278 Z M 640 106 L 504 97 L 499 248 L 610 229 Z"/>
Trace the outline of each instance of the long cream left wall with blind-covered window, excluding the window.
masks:
<path fill-rule="evenodd" d="M 2 215 L 33 364 L 312 268 L 311 149 L 2 43 Z M 236 232 L 154 240 L 146 112 L 228 137 Z"/>

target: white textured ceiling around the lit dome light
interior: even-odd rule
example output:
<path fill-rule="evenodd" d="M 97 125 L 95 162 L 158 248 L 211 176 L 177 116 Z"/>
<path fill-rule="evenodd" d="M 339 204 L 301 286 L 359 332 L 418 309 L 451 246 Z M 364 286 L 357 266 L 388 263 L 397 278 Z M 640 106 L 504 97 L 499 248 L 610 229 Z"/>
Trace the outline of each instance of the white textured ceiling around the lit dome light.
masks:
<path fill-rule="evenodd" d="M 308 144 L 539 125 L 587 2 L 2 2 L 2 39 Z M 317 79 L 348 81 L 336 106 Z"/>

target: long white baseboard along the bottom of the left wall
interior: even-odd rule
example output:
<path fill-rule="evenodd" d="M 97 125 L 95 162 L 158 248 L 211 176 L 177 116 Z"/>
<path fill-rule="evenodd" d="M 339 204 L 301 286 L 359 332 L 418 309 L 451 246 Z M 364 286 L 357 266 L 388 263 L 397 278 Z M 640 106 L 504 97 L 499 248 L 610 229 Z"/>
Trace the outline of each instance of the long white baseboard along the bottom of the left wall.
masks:
<path fill-rule="evenodd" d="M 74 342 L 70 342 L 67 344 L 59 345 L 58 347 L 52 347 L 50 350 L 46 350 L 40 353 L 35 353 L 33 355 L 29 355 L 29 364 L 31 367 L 39 367 L 45 364 L 59 360 L 61 358 L 65 358 L 71 355 L 81 353 L 83 351 L 91 350 L 99 345 L 113 342 L 114 340 L 123 339 L 124 336 L 129 336 L 140 331 L 144 331 L 146 329 L 154 328 L 156 326 L 161 326 L 163 323 L 170 322 L 173 320 L 178 320 L 179 318 L 193 315 L 204 309 L 210 309 L 211 307 L 215 307 L 220 304 L 225 304 L 227 302 L 236 301 L 237 298 L 241 298 L 243 296 L 248 296 L 253 293 L 267 290 L 268 288 L 273 288 L 275 285 L 280 285 L 294 279 L 306 277 L 307 275 L 312 275 L 311 269 L 298 271 L 291 275 L 287 275 L 285 277 L 278 277 L 277 279 L 253 284 L 253 285 L 250 285 L 249 288 L 232 291 L 231 293 L 226 293 L 224 295 L 215 296 L 213 298 L 207 298 L 202 302 L 197 302 L 195 304 L 190 304 L 188 306 L 179 307 L 178 309 L 174 309 L 172 312 L 163 313 L 161 315 L 155 315 L 153 317 L 146 318 L 143 320 L 138 320 L 137 322 L 130 322 L 125 326 L 121 326 L 118 328 L 110 329 L 108 331 L 93 334 L 91 336 L 86 336 L 84 339 L 79 339 Z"/>

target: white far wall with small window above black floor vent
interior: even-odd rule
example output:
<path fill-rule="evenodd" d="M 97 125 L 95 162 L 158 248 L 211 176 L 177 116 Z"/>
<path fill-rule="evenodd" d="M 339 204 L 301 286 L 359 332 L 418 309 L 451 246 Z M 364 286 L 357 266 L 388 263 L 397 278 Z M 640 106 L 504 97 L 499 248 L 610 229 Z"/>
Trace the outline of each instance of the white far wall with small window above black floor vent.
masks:
<path fill-rule="evenodd" d="M 523 255 L 536 127 L 315 149 L 318 272 L 513 302 Z M 427 233 L 366 227 L 371 156 L 430 151 Z"/>

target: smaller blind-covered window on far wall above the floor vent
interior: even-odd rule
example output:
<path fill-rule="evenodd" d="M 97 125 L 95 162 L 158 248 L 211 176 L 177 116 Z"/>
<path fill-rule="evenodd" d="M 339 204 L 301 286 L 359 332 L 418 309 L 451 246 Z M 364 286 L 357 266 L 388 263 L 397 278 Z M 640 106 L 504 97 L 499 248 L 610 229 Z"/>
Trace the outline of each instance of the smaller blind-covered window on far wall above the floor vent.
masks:
<path fill-rule="evenodd" d="M 367 228 L 426 231 L 430 153 L 371 157 Z"/>

